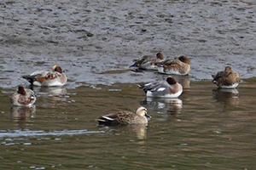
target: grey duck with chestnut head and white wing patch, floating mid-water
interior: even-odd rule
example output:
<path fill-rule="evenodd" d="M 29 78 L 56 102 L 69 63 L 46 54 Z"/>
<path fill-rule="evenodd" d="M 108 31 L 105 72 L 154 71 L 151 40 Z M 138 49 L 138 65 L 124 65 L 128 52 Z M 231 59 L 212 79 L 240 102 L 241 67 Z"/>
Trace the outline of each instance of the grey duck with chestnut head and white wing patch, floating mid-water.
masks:
<path fill-rule="evenodd" d="M 183 93 L 183 86 L 176 82 L 173 77 L 167 77 L 164 81 L 139 84 L 147 97 L 154 98 L 177 98 Z"/>

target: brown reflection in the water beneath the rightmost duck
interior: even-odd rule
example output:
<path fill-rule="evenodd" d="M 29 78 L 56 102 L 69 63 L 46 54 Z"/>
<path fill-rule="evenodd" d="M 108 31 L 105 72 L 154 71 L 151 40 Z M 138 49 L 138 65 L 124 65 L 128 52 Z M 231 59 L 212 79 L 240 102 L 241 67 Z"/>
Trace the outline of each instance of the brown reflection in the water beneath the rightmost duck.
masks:
<path fill-rule="evenodd" d="M 229 105 L 239 104 L 239 92 L 236 88 L 217 88 L 212 90 L 213 99 L 216 99 L 220 103 Z"/>

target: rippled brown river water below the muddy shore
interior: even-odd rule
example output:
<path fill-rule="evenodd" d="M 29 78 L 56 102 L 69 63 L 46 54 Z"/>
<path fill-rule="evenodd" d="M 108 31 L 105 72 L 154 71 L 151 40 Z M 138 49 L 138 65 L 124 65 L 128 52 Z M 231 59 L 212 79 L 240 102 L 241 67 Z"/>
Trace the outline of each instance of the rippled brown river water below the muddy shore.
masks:
<path fill-rule="evenodd" d="M 189 80 L 188 80 L 189 81 Z M 1 169 L 254 169 L 256 80 L 235 90 L 190 82 L 178 99 L 145 99 L 136 84 L 35 88 L 36 105 L 0 94 Z M 112 111 L 147 107 L 145 126 L 98 127 Z"/>

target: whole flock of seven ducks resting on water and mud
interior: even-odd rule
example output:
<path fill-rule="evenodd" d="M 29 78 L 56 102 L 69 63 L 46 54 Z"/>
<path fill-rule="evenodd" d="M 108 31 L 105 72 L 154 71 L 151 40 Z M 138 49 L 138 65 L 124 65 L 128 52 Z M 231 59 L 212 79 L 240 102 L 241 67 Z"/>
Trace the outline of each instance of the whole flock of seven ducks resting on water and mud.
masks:
<path fill-rule="evenodd" d="M 145 55 L 142 59 L 135 59 L 130 66 L 131 71 L 154 70 L 166 75 L 188 75 L 190 71 L 190 60 L 186 56 L 177 59 L 165 59 L 163 54 L 156 56 Z M 55 87 L 64 86 L 67 76 L 62 72 L 61 66 L 54 65 L 50 71 L 35 71 L 30 75 L 23 76 L 33 86 Z M 240 82 L 240 76 L 226 66 L 224 71 L 218 71 L 212 75 L 212 82 L 219 88 L 236 88 Z M 183 87 L 172 76 L 164 81 L 148 82 L 139 84 L 148 98 L 177 98 L 183 93 Z M 12 105 L 30 107 L 36 102 L 35 93 L 28 88 L 19 85 L 18 91 L 11 96 Z M 101 116 L 96 121 L 99 125 L 139 124 L 148 123 L 151 116 L 145 107 L 140 106 L 135 112 L 119 111 Z"/>

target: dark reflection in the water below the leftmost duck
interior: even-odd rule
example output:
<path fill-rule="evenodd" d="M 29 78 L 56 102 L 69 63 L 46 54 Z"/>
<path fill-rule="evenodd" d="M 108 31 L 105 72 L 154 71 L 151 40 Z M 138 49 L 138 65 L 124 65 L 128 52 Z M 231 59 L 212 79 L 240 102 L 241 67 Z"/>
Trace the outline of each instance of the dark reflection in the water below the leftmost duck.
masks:
<path fill-rule="evenodd" d="M 20 129 L 26 128 L 27 122 L 31 122 L 31 118 L 36 114 L 36 106 L 12 106 L 10 108 L 10 116 L 18 123 Z"/>

